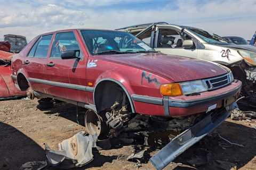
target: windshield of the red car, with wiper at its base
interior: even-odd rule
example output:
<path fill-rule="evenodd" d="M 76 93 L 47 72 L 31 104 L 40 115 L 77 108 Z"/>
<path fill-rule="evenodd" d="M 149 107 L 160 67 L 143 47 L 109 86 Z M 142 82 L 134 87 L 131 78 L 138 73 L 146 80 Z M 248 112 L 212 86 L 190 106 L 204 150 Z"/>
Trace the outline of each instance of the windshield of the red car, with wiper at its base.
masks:
<path fill-rule="evenodd" d="M 92 55 L 155 52 L 130 33 L 105 30 L 81 30 L 85 44 Z M 113 53 L 116 52 L 116 53 Z"/>

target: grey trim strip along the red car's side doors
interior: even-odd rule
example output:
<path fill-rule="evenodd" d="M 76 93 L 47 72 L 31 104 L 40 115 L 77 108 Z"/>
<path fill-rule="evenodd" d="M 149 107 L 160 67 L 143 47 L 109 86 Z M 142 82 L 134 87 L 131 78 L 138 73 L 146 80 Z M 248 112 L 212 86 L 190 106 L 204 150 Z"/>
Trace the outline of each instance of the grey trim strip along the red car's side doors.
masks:
<path fill-rule="evenodd" d="M 55 81 L 35 79 L 35 78 L 29 78 L 28 80 L 30 82 L 41 83 L 41 84 L 46 84 L 50 86 L 63 87 L 68 89 L 82 90 L 82 91 L 88 91 L 88 92 L 93 92 L 94 90 L 93 87 L 81 86 L 78 84 L 69 84 L 69 83 L 55 82 Z"/>

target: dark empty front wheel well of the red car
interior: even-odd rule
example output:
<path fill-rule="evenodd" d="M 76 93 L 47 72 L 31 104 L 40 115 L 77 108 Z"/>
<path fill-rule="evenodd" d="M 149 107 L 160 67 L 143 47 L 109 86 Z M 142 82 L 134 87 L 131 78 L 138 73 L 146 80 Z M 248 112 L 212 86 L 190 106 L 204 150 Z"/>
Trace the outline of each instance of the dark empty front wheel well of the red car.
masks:
<path fill-rule="evenodd" d="M 105 109 L 109 109 L 115 101 L 119 104 L 129 104 L 129 109 L 132 111 L 132 103 L 129 101 L 126 91 L 113 81 L 102 81 L 94 89 L 94 104 L 97 112 L 100 113 Z"/>

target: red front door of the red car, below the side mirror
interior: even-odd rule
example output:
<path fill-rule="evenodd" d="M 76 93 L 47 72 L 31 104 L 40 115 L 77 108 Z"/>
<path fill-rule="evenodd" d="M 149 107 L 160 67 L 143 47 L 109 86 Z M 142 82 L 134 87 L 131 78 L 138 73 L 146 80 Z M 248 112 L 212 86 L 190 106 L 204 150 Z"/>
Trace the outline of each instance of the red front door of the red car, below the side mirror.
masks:
<path fill-rule="evenodd" d="M 86 86 L 86 60 L 78 43 L 77 31 L 57 32 L 51 54 L 46 64 L 47 92 L 52 96 L 66 98 L 87 103 Z M 80 42 L 81 43 L 81 42 Z M 79 50 L 79 59 L 63 60 L 61 53 L 69 50 Z"/>

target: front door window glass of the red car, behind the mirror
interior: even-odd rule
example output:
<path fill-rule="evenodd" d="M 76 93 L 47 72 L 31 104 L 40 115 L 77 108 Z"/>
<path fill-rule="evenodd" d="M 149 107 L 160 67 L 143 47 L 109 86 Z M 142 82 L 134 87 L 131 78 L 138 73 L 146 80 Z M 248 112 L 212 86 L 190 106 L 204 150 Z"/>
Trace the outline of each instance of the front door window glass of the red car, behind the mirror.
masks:
<path fill-rule="evenodd" d="M 51 57 L 60 58 L 61 53 L 68 50 L 79 50 L 74 32 L 57 33 L 53 41 Z"/>

